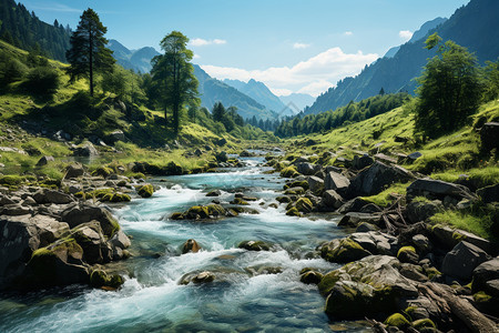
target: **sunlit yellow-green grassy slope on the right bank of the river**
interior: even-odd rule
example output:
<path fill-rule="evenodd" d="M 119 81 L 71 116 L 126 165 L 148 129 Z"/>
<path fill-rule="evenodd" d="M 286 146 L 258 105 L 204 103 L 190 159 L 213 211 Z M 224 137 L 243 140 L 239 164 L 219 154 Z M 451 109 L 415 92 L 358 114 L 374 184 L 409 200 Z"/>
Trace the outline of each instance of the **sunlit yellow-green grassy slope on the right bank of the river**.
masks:
<path fill-rule="evenodd" d="M 411 103 L 411 102 L 410 102 Z M 434 179 L 455 182 L 466 174 L 467 180 L 477 188 L 499 183 L 499 164 L 496 151 L 481 151 L 477 123 L 499 120 L 499 100 L 481 105 L 470 117 L 468 125 L 454 133 L 438 138 L 425 144 L 414 141 L 413 105 L 406 104 L 385 114 L 363 122 L 335 129 L 325 134 L 298 137 L 287 141 L 288 150 L 296 154 L 336 152 L 338 157 L 353 158 L 360 151 L 387 155 L 409 154 L 415 151 L 422 157 L 414 163 L 405 163 L 408 170 L 429 175 Z M 396 137 L 409 139 L 406 143 L 396 142 Z M 303 148 L 305 141 L 313 139 L 319 143 Z M 379 144 L 383 143 L 383 144 Z M 301 145 L 297 148 L 297 144 Z M 329 163 L 334 163 L 333 158 Z M 368 200 L 386 206 L 393 201 L 393 194 L 405 194 L 406 184 L 394 184 Z M 492 209 L 493 210 L 493 209 Z M 434 222 L 450 223 L 458 228 L 490 238 L 490 210 L 457 213 L 446 211 L 438 214 Z"/>

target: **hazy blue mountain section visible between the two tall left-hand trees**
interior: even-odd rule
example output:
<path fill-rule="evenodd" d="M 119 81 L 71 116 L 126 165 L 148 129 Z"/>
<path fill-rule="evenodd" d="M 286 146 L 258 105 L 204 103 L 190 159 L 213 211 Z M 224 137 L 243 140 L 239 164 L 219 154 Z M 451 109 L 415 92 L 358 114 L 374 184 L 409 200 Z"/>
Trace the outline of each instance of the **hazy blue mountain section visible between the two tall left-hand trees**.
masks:
<path fill-rule="evenodd" d="M 154 48 L 146 47 L 139 50 L 129 50 L 118 40 L 111 39 L 108 48 L 113 51 L 116 62 L 125 69 L 147 73 L 151 71 L 151 59 L 160 54 Z"/>

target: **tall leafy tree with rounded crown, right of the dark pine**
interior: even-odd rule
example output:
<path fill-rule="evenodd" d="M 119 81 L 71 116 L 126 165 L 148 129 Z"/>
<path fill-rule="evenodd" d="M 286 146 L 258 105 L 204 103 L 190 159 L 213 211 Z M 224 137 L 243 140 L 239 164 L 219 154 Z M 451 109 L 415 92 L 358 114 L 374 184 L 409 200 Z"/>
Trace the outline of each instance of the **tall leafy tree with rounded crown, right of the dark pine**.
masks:
<path fill-rule="evenodd" d="M 153 98 L 164 108 L 172 111 L 173 131 L 180 131 L 181 112 L 186 104 L 198 104 L 197 79 L 191 63 L 193 52 L 186 48 L 189 38 L 179 31 L 172 31 L 161 41 L 160 54 L 152 60 Z"/>

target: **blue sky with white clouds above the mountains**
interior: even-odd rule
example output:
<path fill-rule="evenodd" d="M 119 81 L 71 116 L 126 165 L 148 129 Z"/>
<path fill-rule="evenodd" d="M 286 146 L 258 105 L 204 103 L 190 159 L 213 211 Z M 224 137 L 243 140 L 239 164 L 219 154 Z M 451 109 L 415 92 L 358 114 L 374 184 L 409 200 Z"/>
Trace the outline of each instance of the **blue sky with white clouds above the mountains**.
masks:
<path fill-rule="evenodd" d="M 94 9 L 109 39 L 154 47 L 172 30 L 218 79 L 254 78 L 277 94 L 317 95 L 469 0 L 21 0 L 43 21 L 77 27 Z"/>

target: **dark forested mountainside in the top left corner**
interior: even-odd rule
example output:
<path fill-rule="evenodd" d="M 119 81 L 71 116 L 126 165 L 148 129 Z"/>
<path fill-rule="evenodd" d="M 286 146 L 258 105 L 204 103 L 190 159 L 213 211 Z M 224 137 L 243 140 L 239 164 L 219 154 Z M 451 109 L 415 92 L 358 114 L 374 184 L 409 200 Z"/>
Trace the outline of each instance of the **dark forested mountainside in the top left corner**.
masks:
<path fill-rule="evenodd" d="M 22 3 L 0 0 L 0 39 L 20 49 L 40 52 L 42 56 L 65 62 L 70 48 L 71 29 L 55 20 L 52 24 L 41 21 Z"/>

